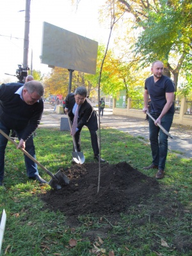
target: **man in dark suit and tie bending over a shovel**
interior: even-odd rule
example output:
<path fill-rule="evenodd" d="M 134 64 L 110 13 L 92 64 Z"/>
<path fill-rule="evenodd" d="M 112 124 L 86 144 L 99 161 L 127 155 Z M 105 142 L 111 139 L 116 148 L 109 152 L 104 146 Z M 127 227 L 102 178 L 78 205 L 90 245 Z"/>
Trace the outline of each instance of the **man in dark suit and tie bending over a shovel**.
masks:
<path fill-rule="evenodd" d="M 77 105 L 79 106 L 79 114 L 75 134 L 77 150 L 81 151 L 80 133 L 83 126 L 86 125 L 91 135 L 94 158 L 99 161 L 97 113 L 93 109 L 92 102 L 90 102 L 86 96 L 87 90 L 84 86 L 78 87 L 75 93 L 69 93 L 65 99 L 65 113 L 68 113 L 70 120 L 73 122 Z M 105 162 L 105 160 L 100 158 L 100 162 Z"/>

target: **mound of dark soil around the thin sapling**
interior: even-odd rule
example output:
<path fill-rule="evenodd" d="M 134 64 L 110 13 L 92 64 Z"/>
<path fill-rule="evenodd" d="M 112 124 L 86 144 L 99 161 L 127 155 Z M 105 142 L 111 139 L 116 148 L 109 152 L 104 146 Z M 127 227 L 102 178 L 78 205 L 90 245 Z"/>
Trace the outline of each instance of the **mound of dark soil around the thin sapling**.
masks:
<path fill-rule="evenodd" d="M 42 200 L 52 210 L 60 210 L 67 216 L 116 215 L 126 212 L 132 205 L 147 202 L 159 191 L 156 179 L 147 177 L 126 162 L 100 165 L 99 193 L 98 163 L 74 164 L 61 171 L 70 179 L 70 184 L 49 191 L 42 195 Z"/>

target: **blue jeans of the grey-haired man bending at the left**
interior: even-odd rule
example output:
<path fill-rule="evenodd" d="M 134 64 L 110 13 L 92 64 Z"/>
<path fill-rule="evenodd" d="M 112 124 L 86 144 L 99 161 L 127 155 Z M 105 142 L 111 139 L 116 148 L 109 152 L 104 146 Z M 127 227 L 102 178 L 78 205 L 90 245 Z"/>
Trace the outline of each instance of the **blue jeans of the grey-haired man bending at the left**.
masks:
<path fill-rule="evenodd" d="M 2 122 L 0 122 L 0 129 L 4 131 L 7 135 L 10 134 L 10 129 L 6 128 Z M 20 139 L 22 136 L 22 131 L 16 131 L 18 138 Z M 3 180 L 4 177 L 4 153 L 5 148 L 8 143 L 8 140 L 0 134 L 0 180 Z M 35 146 L 33 143 L 33 136 L 29 137 L 29 139 L 26 141 L 26 148 L 25 150 L 34 158 L 35 157 Z M 37 165 L 34 163 L 29 157 L 24 155 L 24 160 L 26 164 L 26 170 L 28 177 L 35 177 L 35 174 L 38 174 Z"/>

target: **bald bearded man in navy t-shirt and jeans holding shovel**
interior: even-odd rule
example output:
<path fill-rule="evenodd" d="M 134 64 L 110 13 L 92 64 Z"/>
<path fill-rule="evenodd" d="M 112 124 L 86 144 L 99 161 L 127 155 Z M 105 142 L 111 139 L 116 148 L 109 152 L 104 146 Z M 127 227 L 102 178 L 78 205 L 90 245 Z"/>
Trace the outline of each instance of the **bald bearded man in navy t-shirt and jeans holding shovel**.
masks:
<path fill-rule="evenodd" d="M 174 115 L 175 84 L 170 77 L 163 75 L 163 63 L 159 60 L 152 63 L 152 76 L 145 80 L 144 108 L 148 111 L 148 97 L 151 99 L 149 124 L 150 147 L 152 150 L 152 164 L 144 167 L 144 170 L 157 169 L 156 179 L 163 179 L 166 156 L 168 152 L 168 136 L 164 134 L 157 124 L 161 124 L 166 131 L 170 131 Z"/>

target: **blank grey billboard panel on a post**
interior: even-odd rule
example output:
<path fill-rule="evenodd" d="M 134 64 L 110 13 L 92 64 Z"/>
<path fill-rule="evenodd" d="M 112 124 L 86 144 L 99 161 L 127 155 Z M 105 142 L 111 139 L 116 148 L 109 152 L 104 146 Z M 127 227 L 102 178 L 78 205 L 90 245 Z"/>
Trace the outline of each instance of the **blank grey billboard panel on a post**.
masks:
<path fill-rule="evenodd" d="M 98 42 L 44 22 L 41 63 L 95 74 Z"/>

